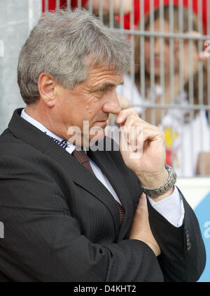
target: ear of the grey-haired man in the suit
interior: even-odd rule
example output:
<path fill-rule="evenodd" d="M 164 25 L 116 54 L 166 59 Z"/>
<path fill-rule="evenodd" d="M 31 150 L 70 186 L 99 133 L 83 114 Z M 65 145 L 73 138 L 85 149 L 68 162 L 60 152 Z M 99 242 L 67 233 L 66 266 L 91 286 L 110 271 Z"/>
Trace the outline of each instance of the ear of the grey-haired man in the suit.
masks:
<path fill-rule="evenodd" d="M 43 102 L 52 108 L 55 106 L 55 81 L 46 73 L 38 77 L 38 91 Z"/>

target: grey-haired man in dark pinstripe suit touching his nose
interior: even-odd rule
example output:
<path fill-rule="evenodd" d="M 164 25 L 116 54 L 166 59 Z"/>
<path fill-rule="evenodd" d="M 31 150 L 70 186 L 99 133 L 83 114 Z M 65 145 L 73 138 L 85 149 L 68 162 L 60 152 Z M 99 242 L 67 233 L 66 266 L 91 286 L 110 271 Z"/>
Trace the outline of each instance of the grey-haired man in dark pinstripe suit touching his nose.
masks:
<path fill-rule="evenodd" d="M 200 228 L 165 166 L 164 136 L 118 105 L 130 57 L 127 40 L 85 11 L 47 13 L 31 31 L 18 64 L 27 105 L 0 138 L 1 281 L 202 274 Z M 120 151 L 103 140 L 110 113 Z"/>

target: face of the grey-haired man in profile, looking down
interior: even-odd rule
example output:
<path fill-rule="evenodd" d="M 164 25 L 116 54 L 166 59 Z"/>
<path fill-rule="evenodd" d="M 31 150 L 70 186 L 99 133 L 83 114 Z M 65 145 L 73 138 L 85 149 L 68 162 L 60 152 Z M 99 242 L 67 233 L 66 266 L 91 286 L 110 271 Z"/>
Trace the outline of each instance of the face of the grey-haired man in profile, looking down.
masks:
<path fill-rule="evenodd" d="M 120 112 L 116 87 L 123 82 L 123 74 L 117 75 L 110 68 L 89 70 L 87 79 L 73 90 L 57 85 L 54 110 L 62 138 L 74 142 L 73 131 L 76 131 L 76 137 L 79 137 L 80 131 L 83 146 L 88 146 L 92 138 L 103 138 L 109 113 Z M 96 132 L 95 128 L 100 128 L 100 131 Z"/>

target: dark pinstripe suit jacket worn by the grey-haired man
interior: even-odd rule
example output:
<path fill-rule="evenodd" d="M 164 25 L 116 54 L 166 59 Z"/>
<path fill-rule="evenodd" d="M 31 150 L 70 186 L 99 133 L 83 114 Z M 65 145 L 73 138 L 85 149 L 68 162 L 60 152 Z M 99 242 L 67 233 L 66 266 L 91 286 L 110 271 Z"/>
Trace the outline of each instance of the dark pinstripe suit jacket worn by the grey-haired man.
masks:
<path fill-rule="evenodd" d="M 118 151 L 90 151 L 125 208 L 15 110 L 0 137 L 0 281 L 196 281 L 205 250 L 193 210 L 175 228 L 148 202 L 162 254 L 127 239 L 141 184 Z"/>

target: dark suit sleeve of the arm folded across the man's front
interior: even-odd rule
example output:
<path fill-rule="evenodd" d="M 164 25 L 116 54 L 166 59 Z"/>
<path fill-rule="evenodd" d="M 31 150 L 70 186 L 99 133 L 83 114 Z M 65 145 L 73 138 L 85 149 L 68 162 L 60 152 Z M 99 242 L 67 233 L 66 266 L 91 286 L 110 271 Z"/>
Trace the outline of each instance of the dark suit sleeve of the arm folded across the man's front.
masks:
<path fill-rule="evenodd" d="M 106 247 L 90 242 L 71 216 L 61 186 L 36 159 L 4 155 L 0 168 L 0 270 L 8 279 L 163 281 L 144 242 L 125 239 Z"/>

